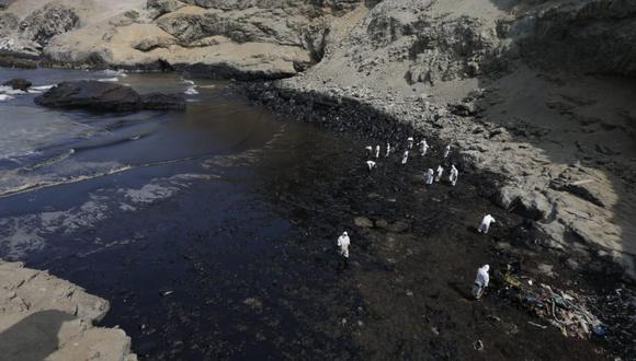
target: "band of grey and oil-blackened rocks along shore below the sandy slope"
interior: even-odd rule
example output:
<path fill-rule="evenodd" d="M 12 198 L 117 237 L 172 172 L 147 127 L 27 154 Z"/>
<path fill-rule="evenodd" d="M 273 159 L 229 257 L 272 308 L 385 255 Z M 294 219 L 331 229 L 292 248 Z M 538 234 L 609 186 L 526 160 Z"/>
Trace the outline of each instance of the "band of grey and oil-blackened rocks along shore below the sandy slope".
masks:
<path fill-rule="evenodd" d="M 603 208 L 605 206 L 599 200 L 603 197 L 603 189 L 589 189 L 591 182 L 577 184 L 577 180 L 586 176 L 599 183 L 605 179 L 593 170 L 575 164 L 561 168 L 563 173 L 557 177 L 553 173 L 543 173 L 531 179 L 520 178 L 520 173 L 530 176 L 529 170 L 537 165 L 549 167 L 550 162 L 542 159 L 540 151 L 532 145 L 512 143 L 510 133 L 515 129 L 482 120 L 480 104 L 488 96 L 482 90 L 447 105 L 431 104 L 421 96 L 404 98 L 399 94 L 378 94 L 364 88 L 343 89 L 329 83 L 317 85 L 316 82 L 304 82 L 302 77 L 275 82 L 238 83 L 237 90 L 281 114 L 337 131 L 354 131 L 365 138 L 385 139 L 394 144 L 402 143 L 411 136 L 422 137 L 434 142 L 438 149 L 452 142 L 459 154 L 463 172 L 491 175 L 487 179 L 495 182 L 490 186 L 499 193 L 490 200 L 529 220 L 527 242 L 557 254 L 567 255 L 573 248 L 576 251 L 569 258 L 572 268 L 580 269 L 593 257 L 597 260 L 592 261 L 595 270 L 603 270 L 627 282 L 634 281 L 636 275 L 631 255 L 594 240 L 594 235 L 590 234 L 594 230 L 577 223 L 577 214 L 565 213 L 572 205 L 560 203 L 564 197 L 547 198 L 545 195 L 545 191 L 567 193 Z M 519 153 L 504 159 L 506 164 L 502 164 L 499 152 L 510 152 L 513 148 L 518 148 Z M 545 188 L 537 189 L 540 184 Z M 612 226 L 609 221 L 600 220 L 599 223 L 600 228 Z M 576 237 L 571 237 L 569 232 L 573 232 Z M 605 259 L 602 263 L 604 266 L 598 263 L 599 259 Z M 621 265 L 623 270 L 614 264 Z"/>

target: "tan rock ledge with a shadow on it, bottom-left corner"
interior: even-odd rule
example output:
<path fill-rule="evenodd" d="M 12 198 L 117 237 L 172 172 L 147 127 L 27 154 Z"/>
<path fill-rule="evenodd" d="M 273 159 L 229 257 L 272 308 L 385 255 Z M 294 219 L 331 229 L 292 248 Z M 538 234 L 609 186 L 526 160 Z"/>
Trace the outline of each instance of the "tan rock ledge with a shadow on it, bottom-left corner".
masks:
<path fill-rule="evenodd" d="M 99 323 L 109 301 L 82 288 L 0 260 L 0 353 L 8 360 L 134 361 L 130 338 Z"/>

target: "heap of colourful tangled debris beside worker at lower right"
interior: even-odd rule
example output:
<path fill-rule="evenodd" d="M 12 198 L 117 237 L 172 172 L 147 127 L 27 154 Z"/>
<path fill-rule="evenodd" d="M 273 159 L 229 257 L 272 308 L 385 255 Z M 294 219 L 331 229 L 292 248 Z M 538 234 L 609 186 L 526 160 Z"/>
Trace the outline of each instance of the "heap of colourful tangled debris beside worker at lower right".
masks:
<path fill-rule="evenodd" d="M 503 275 L 507 296 L 520 302 L 535 316 L 560 329 L 566 337 L 589 338 L 592 334 L 603 336 L 606 326 L 588 311 L 587 298 L 573 292 L 534 283 L 526 277 L 513 276 L 510 271 Z M 540 324 L 534 326 L 546 328 Z"/>

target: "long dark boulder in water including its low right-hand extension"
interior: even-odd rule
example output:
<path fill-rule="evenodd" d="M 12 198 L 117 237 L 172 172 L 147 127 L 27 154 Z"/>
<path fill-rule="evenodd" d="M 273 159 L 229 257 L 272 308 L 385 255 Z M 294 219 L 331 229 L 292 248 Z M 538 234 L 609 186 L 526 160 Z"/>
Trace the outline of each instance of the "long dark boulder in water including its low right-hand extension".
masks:
<path fill-rule="evenodd" d="M 35 103 L 57 108 L 107 112 L 185 108 L 185 101 L 180 95 L 152 93 L 141 96 L 129 86 L 93 80 L 60 83 L 37 96 Z"/>

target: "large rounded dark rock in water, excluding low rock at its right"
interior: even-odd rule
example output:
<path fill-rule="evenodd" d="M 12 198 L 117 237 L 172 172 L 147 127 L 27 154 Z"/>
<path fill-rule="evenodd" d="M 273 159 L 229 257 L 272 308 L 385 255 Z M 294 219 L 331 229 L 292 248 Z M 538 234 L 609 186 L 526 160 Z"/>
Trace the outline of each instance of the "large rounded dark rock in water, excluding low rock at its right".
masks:
<path fill-rule="evenodd" d="M 99 81 L 64 82 L 37 96 L 35 104 L 57 108 L 138 110 L 141 97 L 132 88 Z"/>

